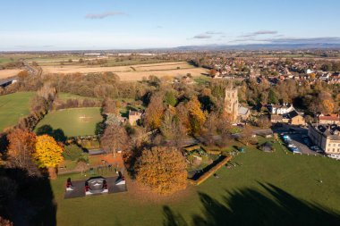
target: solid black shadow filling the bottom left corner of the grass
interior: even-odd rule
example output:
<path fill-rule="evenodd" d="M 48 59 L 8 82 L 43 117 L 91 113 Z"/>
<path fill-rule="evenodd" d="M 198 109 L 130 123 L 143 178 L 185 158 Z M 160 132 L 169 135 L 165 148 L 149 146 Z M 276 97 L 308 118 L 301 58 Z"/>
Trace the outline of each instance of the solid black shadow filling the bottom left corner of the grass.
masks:
<path fill-rule="evenodd" d="M 54 194 L 46 176 L 0 168 L 0 216 L 14 225 L 56 225 Z"/>

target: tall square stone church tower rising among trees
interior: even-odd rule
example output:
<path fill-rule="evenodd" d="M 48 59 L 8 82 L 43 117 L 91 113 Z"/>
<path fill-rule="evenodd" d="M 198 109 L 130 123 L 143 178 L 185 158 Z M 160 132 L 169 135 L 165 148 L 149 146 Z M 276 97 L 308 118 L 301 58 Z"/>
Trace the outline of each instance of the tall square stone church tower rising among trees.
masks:
<path fill-rule="evenodd" d="M 225 113 L 230 117 L 231 122 L 237 121 L 238 111 L 237 88 L 225 88 Z"/>

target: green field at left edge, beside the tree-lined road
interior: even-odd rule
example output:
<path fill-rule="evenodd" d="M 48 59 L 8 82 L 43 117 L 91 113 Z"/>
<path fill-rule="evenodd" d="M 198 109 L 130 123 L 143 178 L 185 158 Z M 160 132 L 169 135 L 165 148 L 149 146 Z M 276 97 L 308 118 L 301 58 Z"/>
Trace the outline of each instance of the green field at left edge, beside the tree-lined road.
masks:
<path fill-rule="evenodd" d="M 0 96 L 0 131 L 15 125 L 21 117 L 30 113 L 33 92 L 20 92 Z"/>

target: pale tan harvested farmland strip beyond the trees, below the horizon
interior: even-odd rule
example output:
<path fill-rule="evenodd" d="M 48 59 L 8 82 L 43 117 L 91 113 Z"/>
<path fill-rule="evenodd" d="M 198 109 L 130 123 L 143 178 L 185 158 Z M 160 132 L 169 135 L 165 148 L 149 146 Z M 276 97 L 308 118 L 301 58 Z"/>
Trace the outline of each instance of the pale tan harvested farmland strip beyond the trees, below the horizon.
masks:
<path fill-rule="evenodd" d="M 58 66 L 42 66 L 45 73 L 91 73 L 91 72 L 105 72 L 111 71 L 117 74 L 121 80 L 142 80 L 149 75 L 157 77 L 164 76 L 180 76 L 191 73 L 193 77 L 199 77 L 202 74 L 208 73 L 208 70 L 203 68 L 196 68 L 186 62 L 172 62 L 172 63 L 150 63 L 137 64 L 129 66 L 116 67 L 87 67 L 82 65 L 58 65 Z"/>

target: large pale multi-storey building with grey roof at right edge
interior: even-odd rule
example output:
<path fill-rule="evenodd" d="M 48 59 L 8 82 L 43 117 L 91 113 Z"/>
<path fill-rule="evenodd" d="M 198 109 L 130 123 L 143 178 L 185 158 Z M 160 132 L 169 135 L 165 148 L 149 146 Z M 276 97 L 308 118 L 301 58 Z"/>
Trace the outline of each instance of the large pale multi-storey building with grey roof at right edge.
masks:
<path fill-rule="evenodd" d="M 308 136 L 326 154 L 340 154 L 340 127 L 338 125 L 309 124 Z"/>

